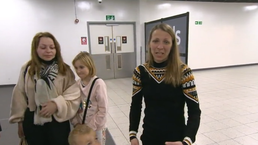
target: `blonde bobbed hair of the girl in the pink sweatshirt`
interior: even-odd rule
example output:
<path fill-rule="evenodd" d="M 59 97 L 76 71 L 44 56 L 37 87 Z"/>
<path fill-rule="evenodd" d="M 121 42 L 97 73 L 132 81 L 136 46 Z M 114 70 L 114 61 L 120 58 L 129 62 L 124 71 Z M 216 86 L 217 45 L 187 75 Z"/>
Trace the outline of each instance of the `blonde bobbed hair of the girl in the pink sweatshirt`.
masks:
<path fill-rule="evenodd" d="M 94 65 L 94 62 L 90 56 L 90 54 L 86 51 L 80 52 L 76 55 L 76 57 L 72 61 L 72 65 L 75 65 L 75 62 L 79 60 L 81 63 L 83 63 L 88 69 L 89 69 L 89 75 L 91 77 L 96 75 L 96 67 Z"/>

